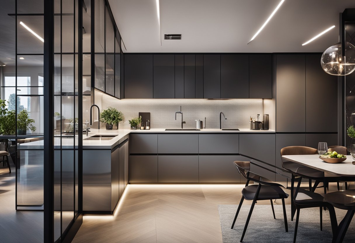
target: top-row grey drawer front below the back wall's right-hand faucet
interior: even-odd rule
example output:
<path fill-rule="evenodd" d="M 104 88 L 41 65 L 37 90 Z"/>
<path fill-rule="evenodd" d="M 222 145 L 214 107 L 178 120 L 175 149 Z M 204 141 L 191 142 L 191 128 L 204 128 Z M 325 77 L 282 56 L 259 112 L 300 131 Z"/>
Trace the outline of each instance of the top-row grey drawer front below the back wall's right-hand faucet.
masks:
<path fill-rule="evenodd" d="M 199 134 L 199 153 L 238 153 L 239 134 Z"/>

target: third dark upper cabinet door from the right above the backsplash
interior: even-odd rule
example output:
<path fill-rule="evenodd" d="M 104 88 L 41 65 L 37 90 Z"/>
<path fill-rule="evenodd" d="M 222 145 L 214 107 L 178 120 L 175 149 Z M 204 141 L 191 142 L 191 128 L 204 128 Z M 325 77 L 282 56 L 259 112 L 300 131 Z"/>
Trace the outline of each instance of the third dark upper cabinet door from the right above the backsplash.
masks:
<path fill-rule="evenodd" d="M 221 97 L 221 56 L 203 55 L 203 98 Z"/>

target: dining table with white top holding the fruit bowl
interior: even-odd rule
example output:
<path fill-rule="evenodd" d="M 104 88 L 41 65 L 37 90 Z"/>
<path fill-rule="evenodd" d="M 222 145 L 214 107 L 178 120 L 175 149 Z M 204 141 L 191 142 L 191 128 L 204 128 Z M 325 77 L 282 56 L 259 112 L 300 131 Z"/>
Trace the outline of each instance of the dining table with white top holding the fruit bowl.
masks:
<path fill-rule="evenodd" d="M 327 163 L 323 161 L 319 155 L 284 155 L 282 156 L 285 160 L 295 162 L 300 164 L 301 166 L 310 167 L 313 169 L 317 169 L 319 171 L 323 171 L 325 176 L 326 173 L 328 175 L 337 175 L 350 177 L 351 180 L 355 180 L 355 161 L 351 156 L 346 156 L 346 160 L 340 163 Z M 333 235 L 332 242 L 342 242 L 343 237 L 346 233 L 347 227 L 344 232 L 343 225 L 349 225 L 350 221 L 353 218 L 354 212 L 353 210 L 348 210 L 347 214 L 343 218 L 343 220 L 339 223 L 338 232 L 336 235 Z M 351 217 L 349 217 L 351 216 Z M 342 229 L 343 228 L 343 229 Z M 342 235 L 342 237 L 340 237 Z"/>

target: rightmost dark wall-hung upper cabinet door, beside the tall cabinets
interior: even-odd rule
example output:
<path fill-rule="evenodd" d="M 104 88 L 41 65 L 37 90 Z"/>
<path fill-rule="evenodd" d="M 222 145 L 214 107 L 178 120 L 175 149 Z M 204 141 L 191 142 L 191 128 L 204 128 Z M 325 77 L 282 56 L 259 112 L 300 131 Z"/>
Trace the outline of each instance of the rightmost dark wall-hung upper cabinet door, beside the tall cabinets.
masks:
<path fill-rule="evenodd" d="M 271 54 L 249 55 L 249 98 L 272 98 Z"/>

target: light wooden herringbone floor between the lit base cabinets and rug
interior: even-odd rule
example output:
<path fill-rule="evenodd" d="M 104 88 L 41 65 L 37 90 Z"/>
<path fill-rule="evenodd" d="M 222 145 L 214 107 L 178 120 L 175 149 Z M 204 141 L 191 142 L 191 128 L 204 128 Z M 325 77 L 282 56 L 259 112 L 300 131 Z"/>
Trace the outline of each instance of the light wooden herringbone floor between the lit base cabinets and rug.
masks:
<path fill-rule="evenodd" d="M 238 204 L 243 187 L 129 185 L 114 216 L 84 216 L 73 242 L 222 243 L 217 206 Z"/>

